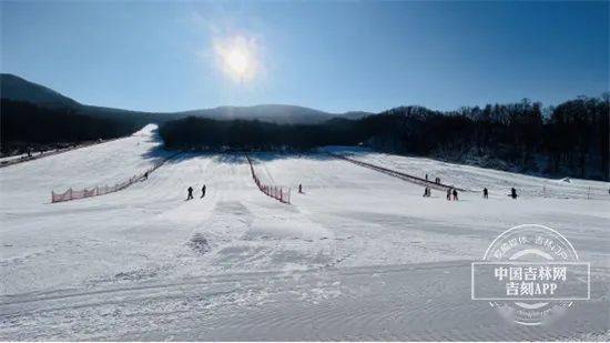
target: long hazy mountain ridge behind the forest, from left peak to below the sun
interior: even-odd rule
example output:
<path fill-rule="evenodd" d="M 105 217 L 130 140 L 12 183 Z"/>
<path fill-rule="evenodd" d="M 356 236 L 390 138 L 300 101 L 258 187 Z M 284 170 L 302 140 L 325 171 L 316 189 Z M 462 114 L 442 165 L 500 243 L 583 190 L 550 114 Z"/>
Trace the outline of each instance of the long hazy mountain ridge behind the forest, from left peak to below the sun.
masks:
<path fill-rule="evenodd" d="M 0 74 L 0 95 L 2 99 L 23 101 L 41 107 L 68 107 L 73 112 L 85 115 L 132 119 L 138 123 L 146 121 L 163 122 L 185 117 L 201 117 L 216 120 L 260 120 L 274 123 L 321 123 L 334 118 L 359 119 L 370 115 L 368 112 L 328 113 L 309 108 L 288 104 L 260 104 L 253 107 L 218 107 L 213 109 L 183 112 L 141 112 L 113 108 L 81 104 L 47 87 L 27 81 L 13 74 Z"/>

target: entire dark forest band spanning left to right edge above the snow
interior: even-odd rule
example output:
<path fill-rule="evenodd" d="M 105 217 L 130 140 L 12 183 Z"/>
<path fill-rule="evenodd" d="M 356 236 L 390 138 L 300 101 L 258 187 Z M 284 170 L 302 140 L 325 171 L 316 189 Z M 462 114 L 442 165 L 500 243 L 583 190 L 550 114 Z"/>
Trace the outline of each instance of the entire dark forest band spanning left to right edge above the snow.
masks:
<path fill-rule="evenodd" d="M 311 150 L 363 144 L 377 151 L 430 157 L 545 175 L 609 178 L 610 95 L 579 97 L 556 107 L 522 100 L 435 111 L 398 107 L 360 119 L 282 124 L 258 120 L 170 114 L 91 107 L 48 107 L 2 99 L 2 153 L 45 150 L 131 134 L 156 121 L 169 149 Z M 91 109 L 90 109 L 91 108 Z"/>

